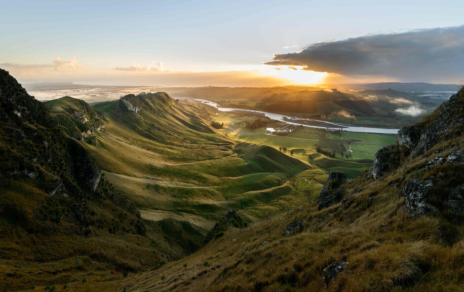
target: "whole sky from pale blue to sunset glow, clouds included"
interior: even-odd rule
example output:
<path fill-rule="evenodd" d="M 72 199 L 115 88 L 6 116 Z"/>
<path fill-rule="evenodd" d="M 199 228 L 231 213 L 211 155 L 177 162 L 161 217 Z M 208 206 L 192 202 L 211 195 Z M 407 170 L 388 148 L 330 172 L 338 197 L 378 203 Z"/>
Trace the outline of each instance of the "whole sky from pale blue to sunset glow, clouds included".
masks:
<path fill-rule="evenodd" d="M 0 68 L 20 82 L 462 83 L 463 8 L 462 0 L 1 0 Z"/>

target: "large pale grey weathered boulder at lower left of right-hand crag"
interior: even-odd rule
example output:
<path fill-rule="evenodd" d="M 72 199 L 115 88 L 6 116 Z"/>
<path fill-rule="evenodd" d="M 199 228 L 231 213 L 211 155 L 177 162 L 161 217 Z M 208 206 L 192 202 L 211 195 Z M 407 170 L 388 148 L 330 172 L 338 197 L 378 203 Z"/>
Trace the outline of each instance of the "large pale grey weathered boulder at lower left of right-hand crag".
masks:
<path fill-rule="evenodd" d="M 429 189 L 433 186 L 432 181 L 422 181 L 412 179 L 404 184 L 401 194 L 404 197 L 406 206 L 404 212 L 418 218 L 427 213 L 436 213 L 438 210 L 427 202 Z"/>

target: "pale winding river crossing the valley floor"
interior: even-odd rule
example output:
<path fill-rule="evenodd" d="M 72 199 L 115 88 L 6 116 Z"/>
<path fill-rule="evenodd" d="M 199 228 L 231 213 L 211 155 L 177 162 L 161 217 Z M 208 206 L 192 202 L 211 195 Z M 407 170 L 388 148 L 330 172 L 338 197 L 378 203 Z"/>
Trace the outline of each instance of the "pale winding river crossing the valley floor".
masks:
<path fill-rule="evenodd" d="M 233 108 L 222 108 L 219 106 L 217 103 L 208 101 L 205 99 L 199 99 L 199 98 L 188 98 L 188 97 L 181 97 L 177 99 L 187 99 L 187 100 L 193 100 L 200 102 L 202 104 L 208 105 L 210 107 L 213 107 L 219 111 L 248 111 L 248 112 L 257 112 L 257 113 L 262 113 L 265 116 L 269 117 L 270 119 L 273 120 L 278 120 L 290 125 L 302 125 L 305 127 L 311 127 L 311 128 L 319 128 L 319 129 L 343 129 L 343 131 L 348 131 L 348 132 L 357 132 L 357 133 L 378 133 L 378 134 L 397 134 L 399 129 L 387 129 L 387 128 L 371 128 L 371 127 L 358 127 L 358 126 L 351 126 L 351 125 L 346 125 L 346 124 L 338 124 L 338 123 L 332 123 L 332 122 L 327 122 L 327 121 L 321 121 L 321 120 L 315 120 L 315 119 L 305 119 L 301 117 L 295 117 L 295 116 L 289 116 L 289 115 L 283 115 L 279 113 L 273 113 L 273 112 L 267 112 L 267 111 L 261 111 L 261 110 L 244 110 L 244 109 L 233 109 Z M 292 121 L 293 120 L 293 121 Z M 308 122 L 318 122 L 318 123 L 323 123 L 327 124 L 327 126 L 323 125 L 309 125 L 306 123 L 298 122 L 297 120 L 307 120 Z"/>

